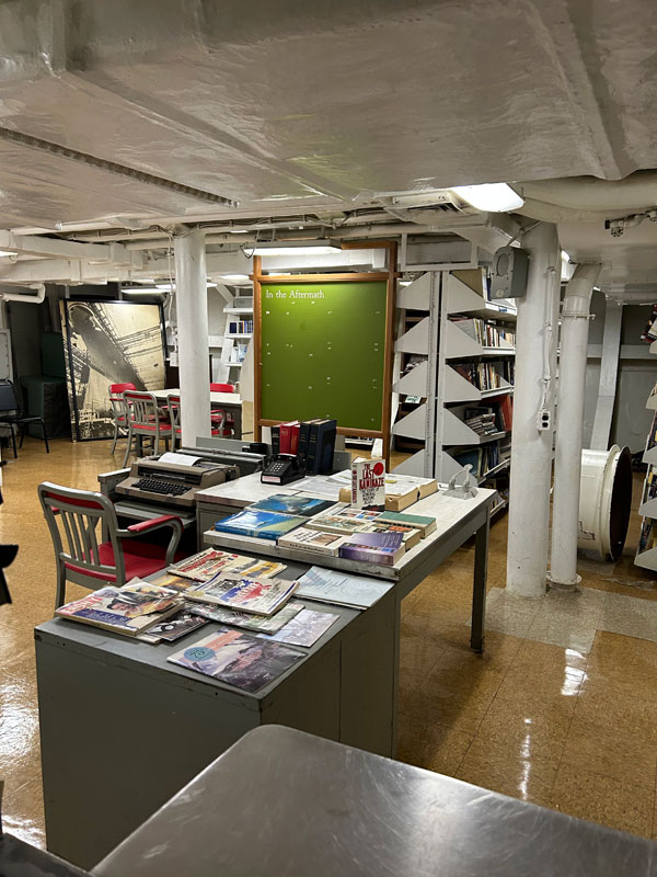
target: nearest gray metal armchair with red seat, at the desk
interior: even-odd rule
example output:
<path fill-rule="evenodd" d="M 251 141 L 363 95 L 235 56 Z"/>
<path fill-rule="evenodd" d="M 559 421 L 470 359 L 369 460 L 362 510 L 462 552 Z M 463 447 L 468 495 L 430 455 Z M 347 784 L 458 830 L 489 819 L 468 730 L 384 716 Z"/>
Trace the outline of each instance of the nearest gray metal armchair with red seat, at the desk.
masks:
<path fill-rule="evenodd" d="M 96 590 L 104 584 L 119 588 L 135 577 L 143 579 L 182 559 L 176 548 L 183 535 L 180 517 L 172 514 L 140 521 L 120 529 L 112 501 L 92 490 L 76 490 L 44 481 L 37 488 L 57 559 L 55 608 L 66 599 L 67 581 Z M 107 533 L 108 542 L 97 540 Z M 142 538 L 170 527 L 166 546 Z"/>

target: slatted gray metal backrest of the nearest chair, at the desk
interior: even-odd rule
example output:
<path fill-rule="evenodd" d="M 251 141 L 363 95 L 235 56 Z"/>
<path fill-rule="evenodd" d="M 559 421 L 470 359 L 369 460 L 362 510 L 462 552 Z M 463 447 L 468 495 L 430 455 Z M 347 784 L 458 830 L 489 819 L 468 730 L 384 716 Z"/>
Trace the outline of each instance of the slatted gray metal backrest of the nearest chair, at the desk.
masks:
<path fill-rule="evenodd" d="M 118 521 L 110 499 L 92 490 L 76 490 L 50 481 L 44 481 L 37 490 L 56 557 L 73 563 L 85 576 L 124 584 L 126 570 L 117 536 Z M 110 536 L 114 566 L 101 562 L 96 537 L 99 524 L 105 525 Z"/>

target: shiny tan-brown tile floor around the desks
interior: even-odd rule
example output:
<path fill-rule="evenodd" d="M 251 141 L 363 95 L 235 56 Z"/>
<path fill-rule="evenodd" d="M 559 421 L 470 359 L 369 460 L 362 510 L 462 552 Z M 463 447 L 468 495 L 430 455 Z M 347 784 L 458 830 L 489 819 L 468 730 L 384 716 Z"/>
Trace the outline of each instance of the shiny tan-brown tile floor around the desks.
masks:
<path fill-rule="evenodd" d="M 0 542 L 21 550 L 0 607 L 0 777 L 9 831 L 44 845 L 32 629 L 50 617 L 55 568 L 36 499 L 45 479 L 94 488 L 105 442 L 26 440 L 3 468 Z M 639 479 L 637 478 L 637 485 Z M 657 838 L 657 588 L 626 556 L 583 560 L 581 593 L 504 591 L 506 519 L 491 532 L 487 649 L 468 647 L 472 547 L 403 604 L 399 758 L 525 800 Z M 76 589 L 70 589 L 70 595 Z"/>

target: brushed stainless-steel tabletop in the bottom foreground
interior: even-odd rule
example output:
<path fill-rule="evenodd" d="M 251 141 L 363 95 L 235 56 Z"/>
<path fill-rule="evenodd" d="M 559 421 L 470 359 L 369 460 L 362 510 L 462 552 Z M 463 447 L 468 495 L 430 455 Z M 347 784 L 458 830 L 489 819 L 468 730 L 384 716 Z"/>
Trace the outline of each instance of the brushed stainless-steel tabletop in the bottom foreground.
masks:
<path fill-rule="evenodd" d="M 657 844 L 270 726 L 247 733 L 94 877 L 655 877 Z"/>

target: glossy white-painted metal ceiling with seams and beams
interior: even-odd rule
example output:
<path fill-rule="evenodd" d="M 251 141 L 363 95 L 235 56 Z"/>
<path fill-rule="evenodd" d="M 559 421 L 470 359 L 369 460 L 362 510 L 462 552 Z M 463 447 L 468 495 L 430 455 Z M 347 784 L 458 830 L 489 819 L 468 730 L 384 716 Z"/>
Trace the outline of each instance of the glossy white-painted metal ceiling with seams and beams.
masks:
<path fill-rule="evenodd" d="M 656 67 L 655 0 L 9 0 L 0 227 L 316 213 L 459 183 L 619 180 L 657 168 Z M 619 288 L 657 270 L 652 223 L 618 241 L 600 221 L 560 231 L 573 257 L 603 259 Z"/>

